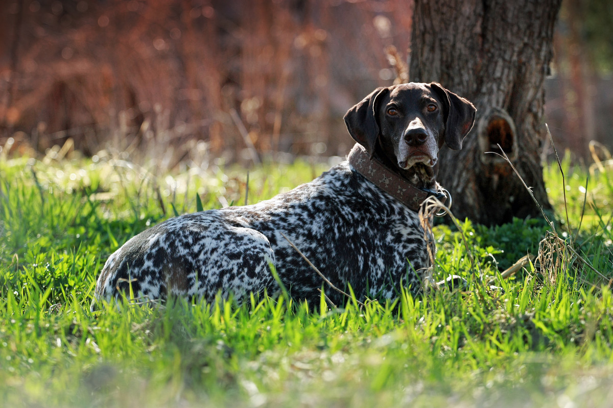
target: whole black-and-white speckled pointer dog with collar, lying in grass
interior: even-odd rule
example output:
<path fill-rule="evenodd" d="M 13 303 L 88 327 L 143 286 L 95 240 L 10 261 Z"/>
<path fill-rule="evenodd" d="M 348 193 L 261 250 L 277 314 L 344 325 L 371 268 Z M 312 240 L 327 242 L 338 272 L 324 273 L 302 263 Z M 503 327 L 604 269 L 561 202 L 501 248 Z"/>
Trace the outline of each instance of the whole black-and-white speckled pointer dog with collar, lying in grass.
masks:
<path fill-rule="evenodd" d="M 357 142 L 347 161 L 267 201 L 181 215 L 132 237 L 105 263 L 92 310 L 122 293 L 240 302 L 280 283 L 294 299 L 313 304 L 324 289 L 343 302 L 321 275 L 358 299 L 419 291 L 432 234 L 419 206 L 444 198 L 438 152 L 462 148 L 475 113 L 438 83 L 375 89 L 344 117 Z"/>

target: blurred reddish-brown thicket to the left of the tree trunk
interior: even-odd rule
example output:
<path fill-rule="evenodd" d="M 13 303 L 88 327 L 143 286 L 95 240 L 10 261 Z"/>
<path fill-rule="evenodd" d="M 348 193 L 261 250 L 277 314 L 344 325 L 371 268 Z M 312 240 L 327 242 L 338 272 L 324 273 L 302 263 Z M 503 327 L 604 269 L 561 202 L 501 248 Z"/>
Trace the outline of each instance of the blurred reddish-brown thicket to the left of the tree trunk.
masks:
<path fill-rule="evenodd" d="M 392 76 L 383 48 L 406 50 L 411 31 L 399 0 L 25 0 L 2 15 L 2 127 L 89 153 L 156 138 L 235 150 L 232 109 L 261 151 L 344 152 L 339 117 Z"/>

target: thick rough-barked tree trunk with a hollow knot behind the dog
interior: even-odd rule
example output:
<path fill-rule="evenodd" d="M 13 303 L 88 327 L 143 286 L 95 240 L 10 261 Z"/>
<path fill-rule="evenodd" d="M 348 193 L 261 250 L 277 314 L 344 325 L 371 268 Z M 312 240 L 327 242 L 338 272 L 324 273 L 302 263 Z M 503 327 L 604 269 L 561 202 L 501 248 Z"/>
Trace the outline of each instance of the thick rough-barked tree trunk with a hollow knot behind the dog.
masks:
<path fill-rule="evenodd" d="M 500 153 L 497 144 L 550 209 L 540 163 L 547 142 L 543 81 L 560 2 L 415 1 L 409 79 L 440 82 L 478 109 L 463 149 L 440 152 L 438 180 L 460 219 L 500 224 L 540 215 L 511 166 L 487 153 Z"/>

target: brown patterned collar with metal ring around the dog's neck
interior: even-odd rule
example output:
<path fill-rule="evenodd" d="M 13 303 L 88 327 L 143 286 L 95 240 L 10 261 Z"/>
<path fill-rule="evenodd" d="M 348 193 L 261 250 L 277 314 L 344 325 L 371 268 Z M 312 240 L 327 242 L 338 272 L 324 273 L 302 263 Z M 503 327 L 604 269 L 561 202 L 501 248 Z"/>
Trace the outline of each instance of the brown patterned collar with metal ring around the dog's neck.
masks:
<path fill-rule="evenodd" d="M 349 152 L 347 160 L 349 160 L 349 164 L 353 166 L 357 172 L 362 174 L 362 176 L 366 177 L 368 181 L 402 202 L 402 204 L 409 207 L 411 210 L 419 211 L 422 202 L 429 196 L 435 196 L 443 203 L 447 199 L 440 184 L 435 183 L 436 190 L 416 187 L 384 166 L 381 161 L 374 157 L 370 158 L 366 149 L 358 143 L 356 143 L 356 146 Z"/>

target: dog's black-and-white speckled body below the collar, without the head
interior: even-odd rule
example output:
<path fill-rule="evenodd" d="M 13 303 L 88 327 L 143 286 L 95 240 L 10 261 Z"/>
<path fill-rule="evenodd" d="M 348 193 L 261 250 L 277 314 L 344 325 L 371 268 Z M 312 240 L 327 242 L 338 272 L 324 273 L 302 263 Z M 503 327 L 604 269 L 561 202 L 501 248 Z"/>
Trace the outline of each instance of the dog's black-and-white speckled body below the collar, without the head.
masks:
<path fill-rule="evenodd" d="M 135 295 L 150 299 L 273 294 L 272 263 L 292 297 L 318 302 L 322 278 L 282 233 L 335 286 L 351 284 L 359 299 L 393 297 L 401 283 L 416 290 L 416 271 L 429 266 L 417 213 L 345 161 L 259 204 L 181 215 L 147 229 L 110 256 L 95 297 L 118 298 L 118 288 L 129 293 L 129 283 Z"/>

